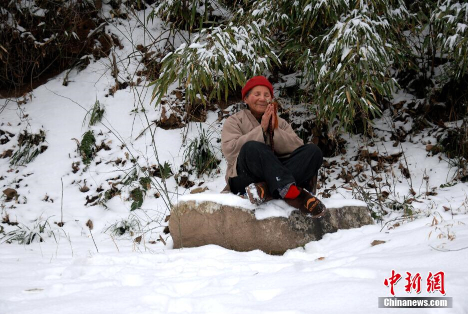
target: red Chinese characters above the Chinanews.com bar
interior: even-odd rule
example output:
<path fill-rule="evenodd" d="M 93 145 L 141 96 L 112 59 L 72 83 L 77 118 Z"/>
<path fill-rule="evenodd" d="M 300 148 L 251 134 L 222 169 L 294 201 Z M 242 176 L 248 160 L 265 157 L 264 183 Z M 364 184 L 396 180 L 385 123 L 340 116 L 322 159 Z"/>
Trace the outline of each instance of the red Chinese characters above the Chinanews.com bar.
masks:
<path fill-rule="evenodd" d="M 443 271 L 439 271 L 434 274 L 432 274 L 432 272 L 429 271 L 429 274 L 427 275 L 427 279 L 426 279 L 427 292 L 439 291 L 442 295 L 445 295 L 444 275 L 445 274 Z M 383 284 L 385 286 L 390 287 L 390 293 L 393 296 L 395 295 L 394 286 L 400 279 L 401 279 L 401 275 L 398 272 L 395 272 L 394 269 L 392 269 L 391 276 L 383 280 Z M 416 293 L 421 292 L 422 277 L 419 272 L 412 275 L 410 272 L 406 271 L 405 280 L 406 280 L 406 284 L 404 285 L 404 290 L 406 292 L 408 293 L 411 293 L 412 291 Z"/>

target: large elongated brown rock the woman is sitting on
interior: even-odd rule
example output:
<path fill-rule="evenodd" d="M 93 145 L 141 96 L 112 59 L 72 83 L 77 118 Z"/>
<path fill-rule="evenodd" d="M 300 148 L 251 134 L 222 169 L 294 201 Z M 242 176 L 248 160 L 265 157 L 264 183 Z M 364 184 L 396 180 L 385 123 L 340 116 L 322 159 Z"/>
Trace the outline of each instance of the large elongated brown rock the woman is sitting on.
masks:
<path fill-rule="evenodd" d="M 212 201 L 180 201 L 169 218 L 174 248 L 217 244 L 238 251 L 261 249 L 283 254 L 319 240 L 327 232 L 373 223 L 364 206 L 329 208 L 321 218 L 291 212 L 286 217 L 257 219 L 253 210 Z"/>

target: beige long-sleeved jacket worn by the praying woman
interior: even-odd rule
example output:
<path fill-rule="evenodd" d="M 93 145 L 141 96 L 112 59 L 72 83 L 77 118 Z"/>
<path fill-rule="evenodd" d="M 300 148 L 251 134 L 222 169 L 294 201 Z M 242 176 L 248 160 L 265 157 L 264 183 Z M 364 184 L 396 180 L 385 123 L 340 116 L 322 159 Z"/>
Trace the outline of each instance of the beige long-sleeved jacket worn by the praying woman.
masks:
<path fill-rule="evenodd" d="M 226 119 L 221 132 L 221 149 L 228 164 L 225 175 L 228 185 L 224 190 L 229 190 L 229 177 L 237 176 L 237 155 L 242 145 L 249 140 L 256 140 L 269 146 L 270 134 L 265 134 L 264 137 L 260 122 L 249 109 L 243 109 Z M 287 157 L 294 149 L 303 145 L 302 139 L 281 117 L 278 117 L 278 128 L 273 133 L 273 142 L 278 157 Z"/>

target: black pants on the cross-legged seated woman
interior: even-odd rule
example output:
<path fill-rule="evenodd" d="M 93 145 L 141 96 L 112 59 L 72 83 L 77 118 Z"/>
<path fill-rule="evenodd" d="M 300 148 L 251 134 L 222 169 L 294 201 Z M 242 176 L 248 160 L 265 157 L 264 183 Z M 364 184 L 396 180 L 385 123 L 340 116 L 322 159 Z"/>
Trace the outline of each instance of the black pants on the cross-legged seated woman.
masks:
<path fill-rule="evenodd" d="M 289 157 L 278 158 L 269 146 L 251 140 L 242 146 L 237 156 L 237 176 L 229 178 L 229 186 L 234 194 L 244 194 L 250 183 L 265 181 L 275 197 L 278 197 L 278 188 L 292 182 L 308 189 L 322 161 L 322 151 L 315 144 L 302 145 Z"/>

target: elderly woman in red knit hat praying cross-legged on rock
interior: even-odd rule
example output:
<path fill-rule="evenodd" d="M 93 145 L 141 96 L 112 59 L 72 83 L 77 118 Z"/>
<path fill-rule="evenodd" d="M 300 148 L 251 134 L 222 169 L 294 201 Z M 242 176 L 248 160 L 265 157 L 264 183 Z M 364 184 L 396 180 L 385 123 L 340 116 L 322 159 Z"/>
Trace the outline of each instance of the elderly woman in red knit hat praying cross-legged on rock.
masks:
<path fill-rule="evenodd" d="M 247 192 L 256 204 L 282 198 L 304 213 L 321 216 L 326 208 L 311 192 L 315 192 L 322 152 L 315 144 L 304 145 L 288 122 L 277 116 L 272 98 L 268 79 L 254 76 L 242 88 L 247 108 L 224 122 L 225 190 Z"/>

